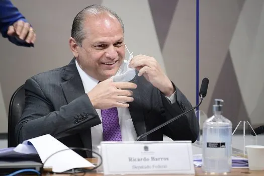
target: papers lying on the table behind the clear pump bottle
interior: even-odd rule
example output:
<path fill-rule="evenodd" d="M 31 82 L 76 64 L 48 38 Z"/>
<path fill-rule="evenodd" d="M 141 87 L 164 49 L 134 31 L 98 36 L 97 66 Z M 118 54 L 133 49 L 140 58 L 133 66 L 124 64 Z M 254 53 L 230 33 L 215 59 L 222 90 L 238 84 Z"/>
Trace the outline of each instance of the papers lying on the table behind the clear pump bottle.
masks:
<path fill-rule="evenodd" d="M 193 155 L 194 158 L 194 165 L 196 167 L 202 166 L 202 154 L 195 154 Z M 247 168 L 248 167 L 248 159 L 232 156 L 232 167 L 233 168 Z"/>

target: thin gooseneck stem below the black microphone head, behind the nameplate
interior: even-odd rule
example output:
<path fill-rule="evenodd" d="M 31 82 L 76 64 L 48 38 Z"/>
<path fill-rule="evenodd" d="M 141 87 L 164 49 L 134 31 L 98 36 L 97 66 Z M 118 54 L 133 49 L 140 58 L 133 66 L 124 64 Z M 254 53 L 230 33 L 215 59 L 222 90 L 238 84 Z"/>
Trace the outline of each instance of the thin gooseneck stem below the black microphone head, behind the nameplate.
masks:
<path fill-rule="evenodd" d="M 164 127 L 165 125 L 167 125 L 167 124 L 173 122 L 174 120 L 179 119 L 179 118 L 182 117 L 183 115 L 185 115 L 185 114 L 187 114 L 187 113 L 193 111 L 193 110 L 196 109 L 197 107 L 199 107 L 199 106 L 201 105 L 203 99 L 204 99 L 204 97 L 203 97 L 202 95 L 200 95 L 200 96 L 201 96 L 201 97 L 200 97 L 201 100 L 200 100 L 199 104 L 196 105 L 196 107 L 194 107 L 194 108 L 192 108 L 192 109 L 190 109 L 190 110 L 188 110 L 188 111 L 186 111 L 186 112 L 184 112 L 184 113 L 182 113 L 182 114 L 180 114 L 180 115 L 178 115 L 178 116 L 176 116 L 176 117 L 173 117 L 172 119 L 170 119 L 170 120 L 164 122 L 163 124 L 161 124 L 161 125 L 159 125 L 159 126 L 153 128 L 153 129 L 147 131 L 146 133 L 141 134 L 140 136 L 138 136 L 138 138 L 137 138 L 136 141 L 140 141 L 141 139 L 143 139 L 143 138 L 146 137 L 147 135 L 153 133 L 154 131 L 156 131 L 156 130 L 162 128 L 162 127 Z"/>

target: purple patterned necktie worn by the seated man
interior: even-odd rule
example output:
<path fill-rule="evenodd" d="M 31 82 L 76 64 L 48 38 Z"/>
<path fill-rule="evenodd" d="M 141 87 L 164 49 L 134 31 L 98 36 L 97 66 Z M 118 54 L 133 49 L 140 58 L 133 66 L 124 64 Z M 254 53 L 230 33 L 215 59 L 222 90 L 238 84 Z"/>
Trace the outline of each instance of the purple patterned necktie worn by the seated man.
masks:
<path fill-rule="evenodd" d="M 117 108 L 101 110 L 104 141 L 122 141 Z"/>

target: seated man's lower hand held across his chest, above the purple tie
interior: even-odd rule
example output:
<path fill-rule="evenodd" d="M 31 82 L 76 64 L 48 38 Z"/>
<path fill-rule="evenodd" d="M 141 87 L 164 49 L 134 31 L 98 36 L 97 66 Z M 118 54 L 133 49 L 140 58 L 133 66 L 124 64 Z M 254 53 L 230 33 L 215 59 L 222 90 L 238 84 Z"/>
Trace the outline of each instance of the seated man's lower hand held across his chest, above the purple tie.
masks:
<path fill-rule="evenodd" d="M 107 79 L 98 83 L 87 93 L 95 109 L 109 109 L 113 107 L 127 108 L 127 102 L 133 102 L 133 92 L 123 89 L 136 89 L 137 84 L 132 82 L 112 82 Z"/>

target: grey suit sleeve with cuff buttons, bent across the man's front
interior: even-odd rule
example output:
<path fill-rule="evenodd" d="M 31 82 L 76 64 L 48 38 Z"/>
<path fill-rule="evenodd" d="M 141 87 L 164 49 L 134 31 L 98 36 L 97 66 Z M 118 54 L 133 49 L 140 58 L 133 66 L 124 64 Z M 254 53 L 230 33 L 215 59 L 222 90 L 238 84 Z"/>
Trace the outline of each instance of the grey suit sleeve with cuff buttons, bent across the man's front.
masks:
<path fill-rule="evenodd" d="M 59 139 L 101 123 L 86 94 L 61 106 L 58 111 L 54 111 L 33 78 L 26 81 L 25 94 L 25 109 L 16 126 L 18 142 L 45 134 Z"/>

